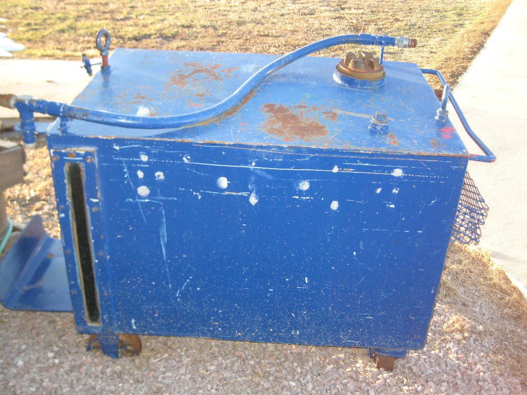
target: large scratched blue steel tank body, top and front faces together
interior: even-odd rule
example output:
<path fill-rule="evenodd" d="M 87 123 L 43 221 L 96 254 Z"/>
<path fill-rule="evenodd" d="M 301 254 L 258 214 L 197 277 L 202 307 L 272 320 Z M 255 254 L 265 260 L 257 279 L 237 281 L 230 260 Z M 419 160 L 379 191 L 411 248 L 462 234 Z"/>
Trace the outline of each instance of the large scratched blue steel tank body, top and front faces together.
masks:
<path fill-rule="evenodd" d="M 230 94 L 268 55 L 118 50 L 74 104 L 169 115 Z M 48 134 L 77 329 L 423 347 L 467 154 L 416 65 L 378 90 L 305 58 L 188 130 L 69 122 Z M 367 125 L 376 110 L 386 134 Z M 446 129 L 445 129 L 446 128 Z M 101 323 L 86 320 L 65 165 L 82 163 Z"/>

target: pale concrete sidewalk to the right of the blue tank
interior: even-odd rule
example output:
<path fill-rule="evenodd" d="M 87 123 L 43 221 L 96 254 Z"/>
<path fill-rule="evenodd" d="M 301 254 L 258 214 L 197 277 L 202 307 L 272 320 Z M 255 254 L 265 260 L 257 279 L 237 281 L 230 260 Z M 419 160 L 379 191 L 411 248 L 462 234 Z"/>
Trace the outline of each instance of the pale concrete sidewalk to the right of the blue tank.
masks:
<path fill-rule="evenodd" d="M 527 295 L 525 21 L 527 2 L 514 0 L 455 87 L 454 95 L 472 129 L 497 156 L 495 163 L 469 165 L 474 182 L 490 206 L 480 245 L 490 250 L 493 260 Z M 453 109 L 450 114 L 455 117 Z M 473 144 L 467 146 L 470 152 L 479 153 Z"/>

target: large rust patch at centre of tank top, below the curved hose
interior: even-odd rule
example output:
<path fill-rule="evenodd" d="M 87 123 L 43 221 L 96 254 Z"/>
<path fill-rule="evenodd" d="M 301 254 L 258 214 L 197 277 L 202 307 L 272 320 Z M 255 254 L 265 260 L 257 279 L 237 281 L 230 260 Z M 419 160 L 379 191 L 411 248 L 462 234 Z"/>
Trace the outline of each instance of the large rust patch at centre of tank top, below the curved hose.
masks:
<path fill-rule="evenodd" d="M 327 127 L 313 114 L 314 110 L 318 110 L 315 106 L 288 107 L 267 103 L 262 105 L 260 110 L 267 115 L 263 124 L 264 130 L 281 137 L 283 141 L 300 139 L 309 142 L 328 134 Z"/>

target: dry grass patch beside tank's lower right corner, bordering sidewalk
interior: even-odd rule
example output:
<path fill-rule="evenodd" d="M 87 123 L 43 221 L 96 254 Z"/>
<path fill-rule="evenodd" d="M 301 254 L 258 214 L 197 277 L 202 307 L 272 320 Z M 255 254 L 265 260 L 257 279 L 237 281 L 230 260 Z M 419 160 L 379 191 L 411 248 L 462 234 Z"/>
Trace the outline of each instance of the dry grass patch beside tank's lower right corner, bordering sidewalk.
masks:
<path fill-rule="evenodd" d="M 526 377 L 527 302 L 488 252 L 452 244 L 438 301 L 453 312 L 443 324 L 445 332 L 466 334 L 472 326 L 483 336 L 492 335 L 488 347 L 496 363 Z"/>

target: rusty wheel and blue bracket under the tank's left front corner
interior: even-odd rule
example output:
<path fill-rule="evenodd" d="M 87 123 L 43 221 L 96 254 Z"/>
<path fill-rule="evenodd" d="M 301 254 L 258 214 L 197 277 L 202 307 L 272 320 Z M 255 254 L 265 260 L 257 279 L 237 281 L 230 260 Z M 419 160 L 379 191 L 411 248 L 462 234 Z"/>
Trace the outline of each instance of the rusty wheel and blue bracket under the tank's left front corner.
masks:
<path fill-rule="evenodd" d="M 86 345 L 86 351 L 101 350 L 110 358 L 138 356 L 143 345 L 135 334 L 92 334 Z"/>

